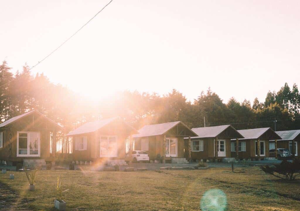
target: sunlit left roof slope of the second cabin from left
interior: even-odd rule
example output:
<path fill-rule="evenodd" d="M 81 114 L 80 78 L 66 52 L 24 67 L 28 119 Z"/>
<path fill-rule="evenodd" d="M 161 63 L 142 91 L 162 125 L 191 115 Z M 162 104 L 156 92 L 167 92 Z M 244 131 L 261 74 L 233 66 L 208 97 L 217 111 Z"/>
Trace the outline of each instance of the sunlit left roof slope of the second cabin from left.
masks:
<path fill-rule="evenodd" d="M 100 128 L 104 127 L 105 125 L 109 124 L 116 120 L 117 117 L 110 118 L 110 119 L 101 119 L 93 122 L 87 122 L 84 125 L 81 125 L 79 128 L 76 128 L 73 131 L 70 131 L 67 136 L 84 134 L 84 133 L 91 133 L 99 130 Z"/>

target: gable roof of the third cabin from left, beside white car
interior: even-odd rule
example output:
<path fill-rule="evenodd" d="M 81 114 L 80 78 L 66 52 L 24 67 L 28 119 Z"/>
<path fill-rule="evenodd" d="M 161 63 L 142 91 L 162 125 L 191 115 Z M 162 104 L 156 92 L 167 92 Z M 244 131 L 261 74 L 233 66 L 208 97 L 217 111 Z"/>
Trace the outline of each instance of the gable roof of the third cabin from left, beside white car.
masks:
<path fill-rule="evenodd" d="M 185 128 L 187 128 L 191 132 L 191 134 L 196 135 L 189 127 L 184 125 L 183 122 L 177 121 L 177 122 L 167 122 L 167 123 L 161 123 L 155 125 L 145 125 L 139 130 L 139 134 L 135 134 L 133 135 L 133 137 L 137 138 L 137 137 L 163 135 L 179 124 L 182 124 Z"/>

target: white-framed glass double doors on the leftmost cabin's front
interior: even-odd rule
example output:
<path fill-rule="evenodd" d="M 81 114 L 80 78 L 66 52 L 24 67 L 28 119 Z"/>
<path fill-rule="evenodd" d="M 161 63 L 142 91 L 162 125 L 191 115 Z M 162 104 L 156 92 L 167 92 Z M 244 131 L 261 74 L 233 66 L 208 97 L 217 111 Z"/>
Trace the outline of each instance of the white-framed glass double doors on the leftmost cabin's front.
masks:
<path fill-rule="evenodd" d="M 40 133 L 39 132 L 17 132 L 17 157 L 39 157 L 40 156 Z"/>

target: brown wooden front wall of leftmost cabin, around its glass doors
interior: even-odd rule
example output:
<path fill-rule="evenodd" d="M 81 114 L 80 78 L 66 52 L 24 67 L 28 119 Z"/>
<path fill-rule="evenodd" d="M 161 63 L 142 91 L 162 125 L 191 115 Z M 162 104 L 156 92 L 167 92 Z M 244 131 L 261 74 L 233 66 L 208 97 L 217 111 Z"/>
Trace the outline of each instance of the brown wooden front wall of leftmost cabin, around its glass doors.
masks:
<path fill-rule="evenodd" d="M 33 118 L 34 116 L 34 118 Z M 57 129 L 45 118 L 33 113 L 7 125 L 0 130 L 4 132 L 3 148 L 0 148 L 0 159 L 23 161 L 23 159 L 50 159 L 50 132 Z M 40 157 L 17 157 L 17 131 L 40 132 Z"/>

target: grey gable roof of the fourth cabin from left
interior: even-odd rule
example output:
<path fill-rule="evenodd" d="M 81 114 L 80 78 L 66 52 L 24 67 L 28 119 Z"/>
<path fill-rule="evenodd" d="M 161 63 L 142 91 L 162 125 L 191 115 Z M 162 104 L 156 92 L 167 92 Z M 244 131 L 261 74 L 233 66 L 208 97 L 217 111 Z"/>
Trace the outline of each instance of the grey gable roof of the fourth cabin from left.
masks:
<path fill-rule="evenodd" d="M 214 137 L 217 137 L 219 134 L 221 134 L 223 131 L 225 131 L 228 128 L 232 128 L 234 131 L 236 131 L 236 133 L 237 133 L 236 135 L 238 138 L 243 138 L 243 136 L 237 130 L 235 130 L 235 128 L 232 127 L 231 125 L 192 128 L 192 131 L 194 131 L 198 136 L 191 137 L 191 138 L 214 138 Z"/>

